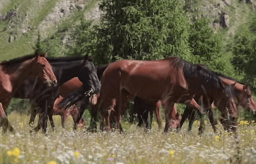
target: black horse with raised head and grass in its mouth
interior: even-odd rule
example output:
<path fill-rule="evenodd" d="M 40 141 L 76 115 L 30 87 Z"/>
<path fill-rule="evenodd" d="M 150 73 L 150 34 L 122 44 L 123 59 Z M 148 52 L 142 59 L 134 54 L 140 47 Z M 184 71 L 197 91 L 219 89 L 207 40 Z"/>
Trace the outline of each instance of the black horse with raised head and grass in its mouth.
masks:
<path fill-rule="evenodd" d="M 16 97 L 28 98 L 33 102 L 32 106 L 34 110 L 31 113 L 29 124 L 34 122 L 35 115 L 37 114 L 37 109 L 39 108 L 48 111 L 46 113 L 50 113 L 48 114 L 48 117 L 50 119 L 52 129 L 55 129 L 52 119 L 52 108 L 54 106 L 54 101 L 57 98 L 59 92 L 61 93 L 62 97 L 65 97 L 68 94 L 65 89 L 61 88 L 63 83 L 69 81 L 74 77 L 78 77 L 74 79 L 74 83 L 71 85 L 73 87 L 72 91 L 82 86 L 85 91 L 92 90 L 92 92 L 94 93 L 99 92 L 100 83 L 94 65 L 91 62 L 92 59 L 88 55 L 86 55 L 85 57 L 75 56 L 65 58 L 47 58 L 47 60 L 52 65 L 54 73 L 59 81 L 59 87 L 54 91 L 42 90 L 40 87 L 42 83 L 30 80 L 20 86 L 20 90 L 16 93 Z M 77 87 L 77 85 L 79 87 Z M 47 100 L 42 101 L 40 99 L 40 96 L 38 96 L 38 94 L 42 95 L 41 93 L 47 95 Z M 33 131 L 38 131 L 41 127 L 43 128 L 43 131 L 46 132 L 47 121 L 45 122 L 45 124 L 38 123 L 38 126 L 34 128 Z"/>

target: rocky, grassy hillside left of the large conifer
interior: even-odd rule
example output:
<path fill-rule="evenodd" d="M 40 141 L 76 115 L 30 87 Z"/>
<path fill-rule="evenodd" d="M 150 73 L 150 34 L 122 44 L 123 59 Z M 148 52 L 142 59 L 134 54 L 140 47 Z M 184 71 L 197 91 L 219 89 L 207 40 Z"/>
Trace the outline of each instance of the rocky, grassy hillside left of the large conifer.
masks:
<path fill-rule="evenodd" d="M 97 0 L 1 0 L 0 61 L 33 53 L 38 32 L 41 41 L 58 34 L 52 44 L 65 49 L 68 32 L 63 29 L 72 28 L 82 15 L 99 19 Z"/>

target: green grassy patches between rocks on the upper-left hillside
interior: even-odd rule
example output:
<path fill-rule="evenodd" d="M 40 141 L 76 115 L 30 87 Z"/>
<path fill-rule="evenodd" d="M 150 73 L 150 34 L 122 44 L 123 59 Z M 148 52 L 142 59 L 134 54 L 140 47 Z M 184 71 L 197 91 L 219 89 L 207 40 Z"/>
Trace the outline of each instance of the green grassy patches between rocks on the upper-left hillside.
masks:
<path fill-rule="evenodd" d="M 18 56 L 26 55 L 33 53 L 34 50 L 32 49 L 35 46 L 37 35 L 38 35 L 38 28 L 37 26 L 42 22 L 42 20 L 51 12 L 54 8 L 57 1 L 61 0 L 41 0 L 39 3 L 35 3 L 35 1 L 31 0 L 13 0 L 10 1 L 6 8 L 3 8 L 0 13 L 4 14 L 7 11 L 18 8 L 17 13 L 19 15 L 19 21 L 16 26 L 13 26 L 11 29 L 4 29 L 9 26 L 7 21 L 2 21 L 0 23 L 0 61 L 12 59 Z M 27 5 L 30 4 L 30 5 Z M 40 5 L 39 5 L 40 4 Z M 91 0 L 88 5 L 85 7 L 85 10 L 82 13 L 89 12 L 92 8 L 95 7 L 97 4 L 96 0 Z M 22 21 L 25 19 L 24 15 L 26 13 L 30 13 L 30 18 L 28 23 L 30 24 L 30 28 L 32 29 L 30 32 L 22 35 L 19 33 L 19 37 L 16 38 L 14 42 L 8 42 L 9 36 L 11 33 L 16 32 L 16 29 L 19 29 L 21 26 Z M 80 13 L 80 14 L 79 14 Z M 61 22 L 57 28 L 51 29 L 47 31 L 48 37 L 52 35 L 56 35 L 58 30 L 64 26 L 67 28 L 72 27 L 72 24 L 80 20 L 81 18 L 81 11 L 76 11 L 74 14 Z M 61 32 L 60 32 L 61 33 Z M 61 35 L 59 35 L 61 36 Z M 62 37 L 62 36 L 61 36 Z M 56 39 L 56 42 L 53 44 L 60 44 L 60 38 Z M 63 49 L 63 47 L 61 47 Z"/>

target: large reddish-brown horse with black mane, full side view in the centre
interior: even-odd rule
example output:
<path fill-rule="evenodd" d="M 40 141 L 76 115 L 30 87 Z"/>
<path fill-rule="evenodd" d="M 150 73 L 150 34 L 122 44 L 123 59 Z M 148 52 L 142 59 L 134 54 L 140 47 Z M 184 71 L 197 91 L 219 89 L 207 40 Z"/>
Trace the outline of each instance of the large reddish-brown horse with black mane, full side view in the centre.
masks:
<path fill-rule="evenodd" d="M 103 73 L 101 114 L 106 118 L 107 131 L 110 131 L 110 111 L 118 101 L 120 129 L 122 109 L 128 100 L 134 100 L 135 96 L 162 100 L 166 115 L 164 131 L 167 132 L 174 103 L 189 104 L 204 114 L 193 99 L 200 90 L 215 92 L 214 98 L 218 98 L 222 110 L 232 108 L 229 103 L 231 95 L 225 92 L 222 81 L 200 65 L 192 65 L 178 57 L 152 61 L 120 60 L 109 64 Z"/>

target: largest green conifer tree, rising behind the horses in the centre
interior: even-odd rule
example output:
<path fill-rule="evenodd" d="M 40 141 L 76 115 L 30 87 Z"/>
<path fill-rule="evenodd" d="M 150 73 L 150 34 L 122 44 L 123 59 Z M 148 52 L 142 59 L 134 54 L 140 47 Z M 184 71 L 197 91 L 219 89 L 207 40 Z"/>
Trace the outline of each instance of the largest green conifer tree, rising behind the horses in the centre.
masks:
<path fill-rule="evenodd" d="M 179 0 L 103 0 L 95 26 L 97 64 L 119 59 L 190 58 L 188 19 Z"/>

